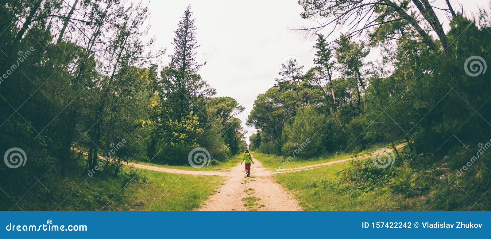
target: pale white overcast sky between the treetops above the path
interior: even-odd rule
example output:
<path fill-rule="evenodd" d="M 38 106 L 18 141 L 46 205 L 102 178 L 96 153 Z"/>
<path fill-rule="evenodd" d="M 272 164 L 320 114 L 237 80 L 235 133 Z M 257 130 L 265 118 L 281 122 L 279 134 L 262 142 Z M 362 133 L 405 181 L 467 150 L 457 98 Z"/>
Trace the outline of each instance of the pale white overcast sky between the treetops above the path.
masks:
<path fill-rule="evenodd" d="M 437 0 L 434 5 L 444 6 L 441 2 L 444 0 Z M 458 1 L 451 2 L 460 11 Z M 490 0 L 460 2 L 469 14 L 476 12 L 478 6 L 488 6 Z M 282 60 L 295 57 L 305 66 L 304 72 L 313 66 L 314 42 L 289 29 L 314 23 L 300 17 L 298 0 L 151 0 L 149 36 L 156 39 L 155 47 L 167 49 L 165 55 L 173 53 L 173 31 L 188 4 L 201 45 L 197 60 L 207 61 L 199 73 L 217 89 L 217 96 L 233 97 L 246 107 L 238 118 L 247 130 L 248 142 L 248 136 L 256 130 L 246 127 L 247 116 L 257 95 L 273 86 Z M 439 18 L 446 20 L 443 14 Z M 168 57 L 163 57 L 159 65 L 167 62 Z"/>

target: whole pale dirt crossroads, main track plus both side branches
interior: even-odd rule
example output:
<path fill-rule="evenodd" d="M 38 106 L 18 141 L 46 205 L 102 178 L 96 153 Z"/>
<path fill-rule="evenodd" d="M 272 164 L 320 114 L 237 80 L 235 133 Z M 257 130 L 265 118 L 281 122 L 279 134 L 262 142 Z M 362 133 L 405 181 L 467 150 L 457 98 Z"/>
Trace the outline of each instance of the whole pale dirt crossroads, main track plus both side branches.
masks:
<path fill-rule="evenodd" d="M 397 145 L 396 148 L 401 148 L 403 146 L 405 146 L 405 144 Z M 72 149 L 87 154 L 87 152 L 80 149 Z M 392 150 L 388 149 L 387 151 Z M 243 164 L 237 164 L 237 166 L 231 168 L 230 172 L 172 169 L 131 162 L 126 163 L 126 165 L 172 174 L 216 175 L 228 177 L 225 183 L 217 190 L 217 193 L 210 196 L 210 198 L 202 204 L 198 209 L 199 211 L 300 211 L 301 207 L 297 200 L 295 200 L 292 194 L 285 190 L 281 185 L 274 182 L 273 174 L 310 170 L 350 160 L 363 159 L 372 155 L 373 154 L 366 154 L 304 167 L 275 170 L 274 172 L 266 169 L 261 162 L 252 156 L 255 164 L 251 165 L 251 177 L 246 177 L 246 171 Z M 104 159 L 102 156 L 100 156 L 100 158 Z"/>

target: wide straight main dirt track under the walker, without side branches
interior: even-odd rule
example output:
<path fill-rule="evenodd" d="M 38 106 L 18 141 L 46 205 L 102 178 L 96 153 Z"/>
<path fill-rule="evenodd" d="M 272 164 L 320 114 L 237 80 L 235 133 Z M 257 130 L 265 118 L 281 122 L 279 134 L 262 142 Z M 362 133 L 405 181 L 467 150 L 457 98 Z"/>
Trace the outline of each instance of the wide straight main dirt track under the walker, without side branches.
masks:
<path fill-rule="evenodd" d="M 212 195 L 199 211 L 300 211 L 297 200 L 274 182 L 271 171 L 252 157 L 251 177 L 244 164 L 232 168 L 230 178 Z"/>

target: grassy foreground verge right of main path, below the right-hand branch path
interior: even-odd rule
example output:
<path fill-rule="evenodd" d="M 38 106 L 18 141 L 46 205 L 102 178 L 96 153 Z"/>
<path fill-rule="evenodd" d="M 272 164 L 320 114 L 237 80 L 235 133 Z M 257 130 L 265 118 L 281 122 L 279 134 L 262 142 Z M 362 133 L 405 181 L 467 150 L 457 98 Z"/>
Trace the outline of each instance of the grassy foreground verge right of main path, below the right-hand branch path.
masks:
<path fill-rule="evenodd" d="M 456 147 L 444 155 L 403 148 L 387 168 L 363 159 L 275 179 L 308 211 L 490 210 L 491 156 L 484 153 L 472 163 L 476 146 Z"/>

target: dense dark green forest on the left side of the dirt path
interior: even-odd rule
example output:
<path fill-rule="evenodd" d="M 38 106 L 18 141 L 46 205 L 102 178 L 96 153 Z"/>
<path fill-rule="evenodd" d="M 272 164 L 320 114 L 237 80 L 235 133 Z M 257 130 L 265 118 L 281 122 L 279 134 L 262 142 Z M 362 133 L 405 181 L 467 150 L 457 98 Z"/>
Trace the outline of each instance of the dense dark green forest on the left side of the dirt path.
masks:
<path fill-rule="evenodd" d="M 219 164 L 246 148 L 235 118 L 244 107 L 214 97 L 199 74 L 206 62 L 196 60 L 190 6 L 176 19 L 170 63 L 159 66 L 152 62 L 165 50 L 142 40 L 149 9 L 141 2 L 0 4 L 1 209 L 18 210 L 29 187 L 33 200 L 55 200 L 53 183 L 70 184 L 74 172 L 118 177 L 129 160 L 189 165 L 194 148 Z M 32 188 L 40 179 L 51 190 Z"/>

